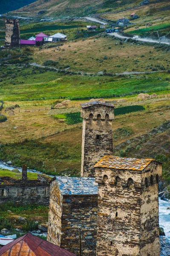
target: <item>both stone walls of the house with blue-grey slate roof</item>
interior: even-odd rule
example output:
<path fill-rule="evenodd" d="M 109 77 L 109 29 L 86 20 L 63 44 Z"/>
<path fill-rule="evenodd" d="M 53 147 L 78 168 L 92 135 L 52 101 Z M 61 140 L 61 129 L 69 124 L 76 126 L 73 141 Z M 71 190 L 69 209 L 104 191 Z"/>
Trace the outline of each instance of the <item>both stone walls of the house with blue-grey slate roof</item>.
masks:
<path fill-rule="evenodd" d="M 81 228 L 81 255 L 95 256 L 97 204 L 97 195 L 61 195 L 57 181 L 53 180 L 50 188 L 47 241 L 79 255 Z M 92 250 L 87 242 L 92 244 Z"/>

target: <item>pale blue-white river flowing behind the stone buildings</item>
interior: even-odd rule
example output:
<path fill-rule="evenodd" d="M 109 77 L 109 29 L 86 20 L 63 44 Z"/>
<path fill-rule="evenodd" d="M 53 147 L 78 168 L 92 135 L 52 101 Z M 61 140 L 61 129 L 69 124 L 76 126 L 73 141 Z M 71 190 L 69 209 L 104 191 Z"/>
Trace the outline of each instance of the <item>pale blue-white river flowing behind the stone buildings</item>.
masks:
<path fill-rule="evenodd" d="M 8 169 L 8 170 L 14 169 L 13 166 L 7 166 L 2 162 L 0 162 L 0 168 Z M 17 167 L 17 169 L 20 172 L 22 171 L 22 169 L 19 167 Z M 36 172 L 36 170 L 28 170 L 28 172 Z M 37 172 L 37 173 L 41 173 L 41 172 Z M 167 239 L 170 240 L 170 209 L 167 209 L 167 207 L 170 207 L 170 200 L 168 202 L 168 201 L 161 200 L 159 198 L 159 226 L 163 227 L 164 233 Z"/>

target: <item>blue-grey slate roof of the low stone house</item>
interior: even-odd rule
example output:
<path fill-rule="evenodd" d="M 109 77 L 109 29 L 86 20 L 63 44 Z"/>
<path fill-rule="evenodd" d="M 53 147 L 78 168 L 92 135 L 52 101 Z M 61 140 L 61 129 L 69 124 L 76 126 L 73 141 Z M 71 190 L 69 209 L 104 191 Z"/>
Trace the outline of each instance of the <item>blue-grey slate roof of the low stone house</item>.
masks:
<path fill-rule="evenodd" d="M 95 178 L 55 176 L 62 195 L 98 195 Z"/>

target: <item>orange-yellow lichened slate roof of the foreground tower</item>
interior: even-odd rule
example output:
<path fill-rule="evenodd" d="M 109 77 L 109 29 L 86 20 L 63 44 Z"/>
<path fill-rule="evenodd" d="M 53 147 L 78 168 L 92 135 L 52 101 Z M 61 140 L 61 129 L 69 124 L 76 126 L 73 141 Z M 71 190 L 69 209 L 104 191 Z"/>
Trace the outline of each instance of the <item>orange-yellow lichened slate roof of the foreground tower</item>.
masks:
<path fill-rule="evenodd" d="M 104 156 L 94 167 L 112 168 L 112 169 L 127 169 L 141 171 L 152 161 L 151 158 L 126 158 L 115 156 Z"/>

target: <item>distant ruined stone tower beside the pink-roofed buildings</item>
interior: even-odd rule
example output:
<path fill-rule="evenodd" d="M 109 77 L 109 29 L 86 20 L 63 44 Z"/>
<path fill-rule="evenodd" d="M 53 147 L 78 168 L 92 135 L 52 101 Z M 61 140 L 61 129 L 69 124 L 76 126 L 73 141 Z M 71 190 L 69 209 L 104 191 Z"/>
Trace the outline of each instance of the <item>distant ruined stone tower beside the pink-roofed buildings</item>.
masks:
<path fill-rule="evenodd" d="M 19 20 L 5 19 L 5 46 L 20 47 L 20 27 Z"/>

